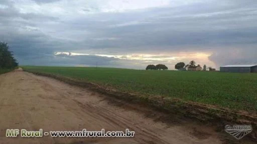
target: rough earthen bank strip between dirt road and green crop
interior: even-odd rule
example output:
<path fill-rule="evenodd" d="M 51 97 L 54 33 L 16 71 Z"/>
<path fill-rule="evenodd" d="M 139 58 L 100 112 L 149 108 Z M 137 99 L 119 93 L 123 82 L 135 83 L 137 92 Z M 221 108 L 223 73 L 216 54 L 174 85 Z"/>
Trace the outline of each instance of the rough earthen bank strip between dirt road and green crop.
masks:
<path fill-rule="evenodd" d="M 35 72 L 31 70 L 24 71 L 48 76 L 69 83 L 71 85 L 88 88 L 92 91 L 99 92 L 126 102 L 144 104 L 150 108 L 157 110 L 183 115 L 185 117 L 208 122 L 212 124 L 251 124 L 254 129 L 257 129 L 257 114 L 252 114 L 247 111 L 236 111 L 229 108 L 218 107 L 214 105 L 202 104 L 193 101 L 183 101 L 178 98 L 169 98 L 158 95 L 142 95 L 129 92 L 122 92 L 111 87 L 106 87 L 92 82 L 82 81 L 57 74 Z M 257 140 L 257 131 L 252 131 L 250 138 Z M 257 142 L 257 141 L 256 141 Z"/>

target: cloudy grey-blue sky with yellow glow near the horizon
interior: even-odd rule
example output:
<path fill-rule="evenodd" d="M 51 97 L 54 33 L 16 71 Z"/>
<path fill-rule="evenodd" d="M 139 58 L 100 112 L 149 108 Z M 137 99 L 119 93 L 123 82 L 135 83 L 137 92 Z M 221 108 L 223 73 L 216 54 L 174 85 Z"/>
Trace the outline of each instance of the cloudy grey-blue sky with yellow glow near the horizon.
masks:
<path fill-rule="evenodd" d="M 256 0 L 0 0 L 20 65 L 257 63 Z"/>

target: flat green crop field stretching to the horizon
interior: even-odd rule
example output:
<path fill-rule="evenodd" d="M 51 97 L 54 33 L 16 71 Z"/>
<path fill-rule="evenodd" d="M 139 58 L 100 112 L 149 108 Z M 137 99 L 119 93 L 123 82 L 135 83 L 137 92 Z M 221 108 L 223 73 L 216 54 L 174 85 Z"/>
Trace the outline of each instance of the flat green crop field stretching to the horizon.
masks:
<path fill-rule="evenodd" d="M 163 95 L 221 107 L 257 110 L 257 74 L 103 67 L 22 66 L 27 71 L 68 76 L 120 91 Z"/>

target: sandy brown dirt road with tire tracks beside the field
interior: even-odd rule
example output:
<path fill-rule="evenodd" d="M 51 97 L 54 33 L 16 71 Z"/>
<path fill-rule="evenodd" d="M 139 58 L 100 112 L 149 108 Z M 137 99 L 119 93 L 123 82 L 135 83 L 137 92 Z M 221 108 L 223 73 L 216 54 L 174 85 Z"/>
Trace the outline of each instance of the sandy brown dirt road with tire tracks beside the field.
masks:
<path fill-rule="evenodd" d="M 0 75 L 0 143 L 221 143 L 201 125 L 166 124 L 97 92 L 22 70 Z M 6 137 L 6 129 L 134 130 L 131 138 Z"/>

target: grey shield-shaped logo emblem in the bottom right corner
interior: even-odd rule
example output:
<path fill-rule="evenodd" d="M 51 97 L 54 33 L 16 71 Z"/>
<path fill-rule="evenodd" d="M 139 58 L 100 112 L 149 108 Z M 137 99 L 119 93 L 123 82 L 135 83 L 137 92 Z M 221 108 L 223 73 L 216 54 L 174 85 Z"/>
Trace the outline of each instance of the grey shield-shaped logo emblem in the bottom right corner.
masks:
<path fill-rule="evenodd" d="M 226 125 L 225 131 L 230 135 L 234 136 L 236 139 L 241 139 L 243 136 L 250 133 L 252 130 L 251 125 Z"/>

